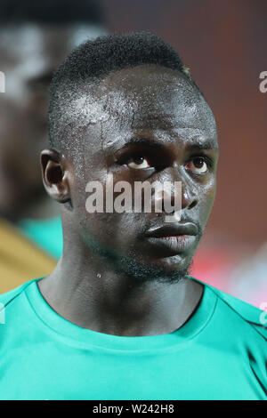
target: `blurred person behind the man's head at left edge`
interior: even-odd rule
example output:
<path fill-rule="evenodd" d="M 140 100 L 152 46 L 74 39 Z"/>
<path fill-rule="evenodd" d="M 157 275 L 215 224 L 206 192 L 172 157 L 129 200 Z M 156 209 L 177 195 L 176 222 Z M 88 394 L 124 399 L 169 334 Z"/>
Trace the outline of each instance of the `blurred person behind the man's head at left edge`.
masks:
<path fill-rule="evenodd" d="M 48 87 L 74 46 L 103 33 L 98 1 L 0 0 L 0 292 L 47 274 L 61 256 L 61 219 L 39 168 Z"/>

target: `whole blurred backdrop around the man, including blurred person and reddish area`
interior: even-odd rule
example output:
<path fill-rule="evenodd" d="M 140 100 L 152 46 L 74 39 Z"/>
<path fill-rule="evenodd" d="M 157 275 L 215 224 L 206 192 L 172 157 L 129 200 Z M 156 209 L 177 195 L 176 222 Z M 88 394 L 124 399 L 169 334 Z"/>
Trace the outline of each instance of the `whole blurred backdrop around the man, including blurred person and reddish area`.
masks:
<path fill-rule="evenodd" d="M 143 29 L 174 46 L 217 122 L 217 196 L 191 275 L 259 307 L 267 301 L 267 92 L 259 89 L 267 2 L 63 3 L 0 0 L 0 292 L 44 276 L 61 253 L 57 208 L 44 197 L 38 167 L 53 69 L 88 36 Z"/>

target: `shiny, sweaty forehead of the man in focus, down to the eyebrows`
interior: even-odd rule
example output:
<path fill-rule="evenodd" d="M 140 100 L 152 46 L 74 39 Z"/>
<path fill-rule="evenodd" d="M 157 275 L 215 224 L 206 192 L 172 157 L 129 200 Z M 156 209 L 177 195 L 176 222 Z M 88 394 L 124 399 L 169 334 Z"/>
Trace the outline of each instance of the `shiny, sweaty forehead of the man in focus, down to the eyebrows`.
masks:
<path fill-rule="evenodd" d="M 195 85 L 180 72 L 158 66 L 125 68 L 107 76 L 84 117 L 101 123 L 107 141 L 120 143 L 151 132 L 216 141 L 214 116 Z M 85 103 L 85 102 L 84 102 Z M 89 122 L 89 120 L 88 120 Z"/>

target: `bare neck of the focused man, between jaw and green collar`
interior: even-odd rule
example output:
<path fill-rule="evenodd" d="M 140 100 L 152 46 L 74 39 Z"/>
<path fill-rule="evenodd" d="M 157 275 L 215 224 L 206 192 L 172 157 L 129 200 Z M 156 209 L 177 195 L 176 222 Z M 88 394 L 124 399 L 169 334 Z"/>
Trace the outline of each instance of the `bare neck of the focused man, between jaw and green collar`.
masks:
<path fill-rule="evenodd" d="M 79 245 L 64 245 L 56 269 L 38 282 L 61 317 L 104 334 L 169 334 L 198 306 L 203 286 L 186 277 L 177 283 L 140 282 Z"/>

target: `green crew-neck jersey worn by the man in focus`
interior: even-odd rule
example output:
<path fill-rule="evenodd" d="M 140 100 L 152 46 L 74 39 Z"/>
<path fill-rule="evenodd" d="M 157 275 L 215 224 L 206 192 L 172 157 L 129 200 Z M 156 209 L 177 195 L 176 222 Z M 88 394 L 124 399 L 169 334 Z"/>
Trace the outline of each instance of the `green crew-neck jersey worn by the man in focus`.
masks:
<path fill-rule="evenodd" d="M 62 318 L 37 281 L 0 296 L 0 399 L 266 399 L 264 311 L 203 284 L 178 330 L 122 337 Z"/>

